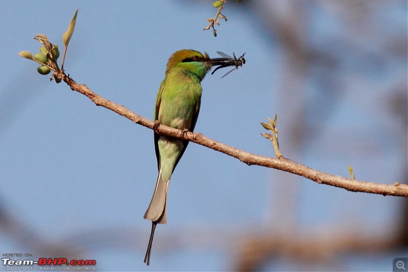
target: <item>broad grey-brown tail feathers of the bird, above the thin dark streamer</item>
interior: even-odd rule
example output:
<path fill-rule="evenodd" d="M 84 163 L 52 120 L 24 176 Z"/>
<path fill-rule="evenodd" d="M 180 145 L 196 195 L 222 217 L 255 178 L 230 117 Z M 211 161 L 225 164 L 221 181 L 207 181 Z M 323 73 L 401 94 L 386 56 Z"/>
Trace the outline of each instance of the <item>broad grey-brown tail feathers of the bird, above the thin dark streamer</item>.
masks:
<path fill-rule="evenodd" d="M 156 224 L 167 223 L 167 190 L 169 187 L 170 178 L 164 180 L 162 171 L 159 171 L 157 177 L 155 192 L 151 197 L 150 205 L 144 214 L 144 219 L 156 222 Z"/>

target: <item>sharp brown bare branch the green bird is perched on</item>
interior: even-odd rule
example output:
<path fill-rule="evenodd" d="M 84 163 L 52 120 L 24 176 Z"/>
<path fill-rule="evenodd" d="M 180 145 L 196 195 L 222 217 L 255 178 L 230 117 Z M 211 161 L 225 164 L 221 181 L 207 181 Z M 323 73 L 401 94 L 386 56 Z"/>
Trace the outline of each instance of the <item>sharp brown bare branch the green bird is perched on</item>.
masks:
<path fill-rule="evenodd" d="M 271 158 L 266 156 L 261 156 L 253 153 L 249 153 L 232 146 L 225 145 L 223 143 L 214 141 L 201 133 L 187 132 L 184 133 L 182 130 L 175 129 L 165 125 L 159 125 L 155 127 L 155 122 L 147 118 L 144 118 L 134 112 L 128 110 L 123 105 L 116 104 L 109 101 L 96 93 L 92 92 L 86 85 L 78 84 L 72 78 L 67 76 L 64 72 L 56 72 L 55 75 L 60 77 L 71 90 L 79 92 L 89 99 L 91 99 L 97 106 L 103 106 L 109 110 L 135 122 L 147 128 L 155 130 L 158 134 L 166 135 L 174 138 L 179 138 L 187 140 L 211 149 L 215 151 L 222 152 L 226 155 L 232 156 L 245 162 L 247 165 L 258 165 L 268 168 L 273 168 L 277 170 L 282 170 L 292 174 L 296 174 L 317 183 L 327 184 L 339 188 L 346 189 L 351 192 L 363 192 L 370 194 L 380 194 L 384 196 L 400 196 L 408 197 L 408 185 L 407 184 L 381 184 L 374 182 L 367 182 L 355 179 L 344 178 L 341 176 L 327 174 L 303 165 L 298 164 L 290 159 L 281 158 Z"/>

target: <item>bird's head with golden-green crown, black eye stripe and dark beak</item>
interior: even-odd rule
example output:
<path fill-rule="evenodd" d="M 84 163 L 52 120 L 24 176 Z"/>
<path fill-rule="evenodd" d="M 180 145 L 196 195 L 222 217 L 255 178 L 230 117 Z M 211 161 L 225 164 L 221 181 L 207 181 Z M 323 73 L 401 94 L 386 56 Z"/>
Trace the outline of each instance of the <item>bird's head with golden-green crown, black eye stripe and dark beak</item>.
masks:
<path fill-rule="evenodd" d="M 171 55 L 167 62 L 166 75 L 174 68 L 185 69 L 196 74 L 202 80 L 213 66 L 225 65 L 220 59 L 210 59 L 207 52 L 204 55 L 192 49 L 182 49 Z"/>

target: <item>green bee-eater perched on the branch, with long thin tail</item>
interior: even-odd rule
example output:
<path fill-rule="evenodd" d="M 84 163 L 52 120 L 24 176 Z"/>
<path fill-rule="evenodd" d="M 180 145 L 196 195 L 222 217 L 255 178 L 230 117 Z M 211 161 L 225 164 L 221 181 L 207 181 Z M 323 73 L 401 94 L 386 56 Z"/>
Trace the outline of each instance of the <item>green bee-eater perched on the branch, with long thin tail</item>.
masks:
<path fill-rule="evenodd" d="M 156 98 L 155 121 L 178 129 L 193 131 L 201 103 L 201 80 L 213 66 L 236 66 L 231 59 L 210 59 L 207 53 L 183 49 L 170 57 L 166 76 Z M 242 65 L 242 64 L 241 64 Z M 167 222 L 167 191 L 171 174 L 182 157 L 188 141 L 155 133 L 155 148 L 159 175 L 155 192 L 144 219 L 151 220 L 151 234 L 144 262 L 149 265 L 151 244 L 157 224 Z"/>

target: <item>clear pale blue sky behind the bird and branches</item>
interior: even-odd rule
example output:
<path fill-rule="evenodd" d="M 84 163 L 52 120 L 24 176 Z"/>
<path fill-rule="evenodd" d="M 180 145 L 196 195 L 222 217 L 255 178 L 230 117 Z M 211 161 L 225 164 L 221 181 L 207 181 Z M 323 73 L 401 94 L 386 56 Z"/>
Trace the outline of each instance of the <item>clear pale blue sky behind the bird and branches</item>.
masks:
<path fill-rule="evenodd" d="M 226 6 L 223 12 L 228 21 L 221 21 L 214 38 L 211 32 L 202 31 L 206 19 L 216 12 L 211 2 L 3 2 L 7 12 L 0 16 L 4 60 L 0 67 L 2 206 L 46 241 L 77 242 L 85 248 L 83 257 L 95 258 L 107 270 L 232 269 L 234 251 L 222 243 L 225 240 L 231 247 L 233 241 L 224 238 L 214 247 L 200 241 L 198 246 L 188 244 L 172 250 L 170 235 L 190 237 L 195 229 L 198 234 L 220 229 L 233 237 L 234 231 L 259 226 L 281 228 L 278 216 L 284 212 L 275 210 L 272 197 L 279 195 L 282 185 L 275 186 L 274 181 L 290 175 L 248 167 L 190 144 L 171 179 L 168 224 L 157 228 L 151 265 L 146 267 L 142 261 L 150 222 L 143 220 L 143 214 L 157 178 L 152 131 L 96 107 L 63 83 L 50 83 L 48 76 L 37 73 L 35 63 L 17 55 L 22 50 L 38 51 L 40 44 L 33 40 L 36 34 L 47 35 L 62 49 L 61 36 L 77 8 L 77 26 L 64 68 L 97 94 L 151 119 L 167 59 L 174 51 L 192 48 L 207 51 L 210 57 L 217 57 L 218 50 L 231 55 L 246 52 L 247 63 L 238 71 L 222 79 L 226 70 L 217 71 L 203 80 L 195 130 L 228 145 L 273 156 L 271 144 L 260 135 L 264 132 L 260 122 L 277 113 L 279 128 L 280 120 L 290 115 L 290 107 L 284 103 L 290 99 L 282 98 L 285 90 L 279 89 L 282 48 L 267 36 L 261 17 L 249 9 Z M 316 34 L 311 35 L 311 44 L 322 37 L 341 39 L 344 29 L 339 20 L 315 12 L 319 15 L 312 22 Z M 381 19 L 398 29 L 401 22 L 406 24 L 404 13 L 391 9 Z M 378 53 L 370 44 L 359 48 Z M 406 151 L 401 151 L 406 148 L 406 138 L 393 123 L 395 119 L 373 108 L 381 109 L 393 76 L 406 74 L 406 60 L 373 67 L 358 55 L 345 54 L 348 66 L 344 74 L 349 76 L 342 75 L 342 86 L 347 91 L 326 109 L 327 116 L 318 116 L 320 107 L 325 106 L 319 103 L 321 86 L 313 80 L 303 86 L 304 108 L 313 120 L 310 125 L 324 129 L 304 140 L 296 160 L 342 176 L 348 175 L 347 167 L 352 165 L 359 179 L 394 183 L 401 179 L 400 169 L 406 167 Z M 282 124 L 279 133 L 285 155 L 290 150 L 291 143 L 286 140 L 290 131 Z M 359 225 L 375 233 L 395 223 L 390 210 L 399 207 L 399 198 L 295 180 L 296 226 Z M 103 246 L 80 239 L 110 229 L 134 230 L 135 242 L 129 242 L 129 247 L 112 246 L 109 234 L 101 237 Z M 0 253 L 31 250 L 6 232 L 0 232 L 0 238 Z M 388 269 L 389 260 L 395 257 L 381 256 L 384 262 L 375 267 Z M 351 263 L 351 269 L 364 265 L 362 260 Z M 281 265 L 270 269 L 291 269 L 285 261 Z"/>

